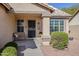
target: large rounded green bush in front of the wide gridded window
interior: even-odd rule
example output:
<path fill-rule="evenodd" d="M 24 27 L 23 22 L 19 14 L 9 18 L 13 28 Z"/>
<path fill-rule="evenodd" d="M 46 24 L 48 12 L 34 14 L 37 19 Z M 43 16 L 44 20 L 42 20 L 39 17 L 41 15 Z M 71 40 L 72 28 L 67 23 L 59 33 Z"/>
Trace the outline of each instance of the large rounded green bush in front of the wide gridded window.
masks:
<path fill-rule="evenodd" d="M 57 49 L 64 49 L 68 45 L 68 35 L 65 32 L 52 32 L 50 44 Z"/>

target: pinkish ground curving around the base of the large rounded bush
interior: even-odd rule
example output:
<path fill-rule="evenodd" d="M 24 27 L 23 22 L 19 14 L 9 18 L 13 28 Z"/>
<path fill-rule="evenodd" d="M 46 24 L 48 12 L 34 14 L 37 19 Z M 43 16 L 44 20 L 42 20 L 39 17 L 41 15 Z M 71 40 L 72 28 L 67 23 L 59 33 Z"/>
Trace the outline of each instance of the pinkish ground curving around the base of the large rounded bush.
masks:
<path fill-rule="evenodd" d="M 68 48 L 58 50 L 51 46 L 42 46 L 45 56 L 79 56 L 79 39 L 69 41 Z"/>

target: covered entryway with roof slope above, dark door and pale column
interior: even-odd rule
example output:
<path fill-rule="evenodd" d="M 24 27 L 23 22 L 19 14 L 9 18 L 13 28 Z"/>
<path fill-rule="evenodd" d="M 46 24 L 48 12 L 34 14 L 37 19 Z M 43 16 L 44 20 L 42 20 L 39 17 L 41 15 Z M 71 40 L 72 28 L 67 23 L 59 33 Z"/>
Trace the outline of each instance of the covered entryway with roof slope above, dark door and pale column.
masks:
<path fill-rule="evenodd" d="M 20 32 L 25 33 L 26 39 L 41 37 L 41 39 L 44 39 L 44 44 L 49 44 L 50 18 L 53 12 L 51 7 L 39 3 L 10 3 L 10 6 L 14 10 L 15 20 L 22 20 L 21 24 L 19 24 Z M 42 34 L 40 35 L 40 33 Z"/>

